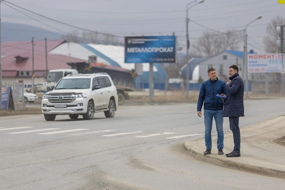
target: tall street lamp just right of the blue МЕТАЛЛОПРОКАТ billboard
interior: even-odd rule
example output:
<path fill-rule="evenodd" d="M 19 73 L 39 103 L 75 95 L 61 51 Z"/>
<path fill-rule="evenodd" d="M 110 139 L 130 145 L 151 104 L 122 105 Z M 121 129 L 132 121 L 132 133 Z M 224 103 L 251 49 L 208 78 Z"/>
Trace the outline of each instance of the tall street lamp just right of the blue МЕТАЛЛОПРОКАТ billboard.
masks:
<path fill-rule="evenodd" d="M 189 23 L 189 18 L 188 18 L 188 10 L 191 9 L 192 7 L 195 7 L 197 4 L 203 3 L 203 1 L 200 1 L 199 3 L 196 3 L 192 5 L 191 7 L 188 7 L 190 4 L 196 2 L 197 0 L 194 0 L 186 5 L 186 61 L 187 61 L 187 69 L 186 69 L 186 93 L 187 93 L 187 98 L 189 98 L 189 70 L 190 70 L 190 65 L 189 65 L 189 58 L 188 58 L 188 50 L 190 46 L 189 42 L 189 35 L 188 35 L 188 23 Z"/>

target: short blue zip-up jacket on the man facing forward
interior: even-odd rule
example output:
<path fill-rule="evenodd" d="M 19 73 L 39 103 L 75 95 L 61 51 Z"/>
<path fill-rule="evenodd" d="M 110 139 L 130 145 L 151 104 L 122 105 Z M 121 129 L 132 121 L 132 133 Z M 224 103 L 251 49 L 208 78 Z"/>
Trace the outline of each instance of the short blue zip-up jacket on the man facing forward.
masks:
<path fill-rule="evenodd" d="M 197 111 L 202 110 L 204 103 L 204 110 L 223 110 L 224 103 L 223 100 L 217 97 L 217 94 L 227 94 L 226 83 L 223 80 L 206 80 L 202 83 Z"/>

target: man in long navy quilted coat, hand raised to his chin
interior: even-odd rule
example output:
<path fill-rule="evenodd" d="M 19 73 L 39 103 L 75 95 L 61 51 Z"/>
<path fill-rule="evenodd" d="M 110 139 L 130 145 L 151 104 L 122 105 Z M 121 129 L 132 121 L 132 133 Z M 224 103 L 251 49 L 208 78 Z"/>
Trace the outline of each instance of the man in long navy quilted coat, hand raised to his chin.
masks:
<path fill-rule="evenodd" d="M 244 116 L 243 79 L 238 74 L 238 66 L 229 67 L 229 82 L 227 82 L 227 98 L 224 99 L 223 117 L 229 117 L 229 127 L 234 137 L 234 150 L 227 157 L 240 157 L 239 118 Z"/>

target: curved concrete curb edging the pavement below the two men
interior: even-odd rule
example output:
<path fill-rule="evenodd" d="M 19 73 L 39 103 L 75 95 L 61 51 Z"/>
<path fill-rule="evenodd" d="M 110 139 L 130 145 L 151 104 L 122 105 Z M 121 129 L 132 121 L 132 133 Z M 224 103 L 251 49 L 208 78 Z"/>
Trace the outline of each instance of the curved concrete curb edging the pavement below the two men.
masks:
<path fill-rule="evenodd" d="M 285 171 L 283 170 L 274 170 L 272 168 L 267 168 L 267 167 L 259 167 L 255 166 L 253 164 L 247 164 L 247 163 L 240 163 L 236 162 L 233 159 L 238 159 L 238 158 L 223 158 L 221 156 L 224 155 L 204 155 L 203 153 L 200 153 L 196 151 L 194 148 L 191 148 L 191 141 L 187 141 L 183 144 L 184 150 L 188 151 L 192 156 L 194 156 L 196 159 L 199 159 L 204 162 L 208 162 L 210 164 L 215 164 L 219 166 L 224 166 L 224 167 L 234 167 L 240 170 L 246 170 L 254 173 L 259 173 L 263 175 L 269 175 L 272 177 L 277 177 L 277 178 L 282 178 L 285 179 Z M 231 159 L 231 160 L 229 160 Z"/>

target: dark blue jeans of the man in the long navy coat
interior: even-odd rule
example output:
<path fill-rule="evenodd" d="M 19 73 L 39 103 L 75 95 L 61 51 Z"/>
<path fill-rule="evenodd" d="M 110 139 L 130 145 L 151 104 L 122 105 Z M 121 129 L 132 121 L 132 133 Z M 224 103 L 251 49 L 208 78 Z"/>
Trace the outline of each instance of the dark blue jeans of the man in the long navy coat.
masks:
<path fill-rule="evenodd" d="M 238 126 L 239 117 L 229 117 L 229 128 L 234 137 L 234 152 L 240 153 L 240 128 Z"/>

